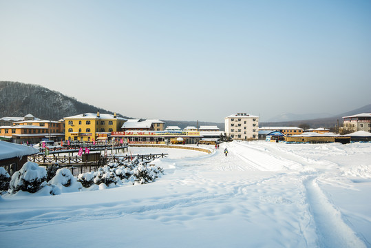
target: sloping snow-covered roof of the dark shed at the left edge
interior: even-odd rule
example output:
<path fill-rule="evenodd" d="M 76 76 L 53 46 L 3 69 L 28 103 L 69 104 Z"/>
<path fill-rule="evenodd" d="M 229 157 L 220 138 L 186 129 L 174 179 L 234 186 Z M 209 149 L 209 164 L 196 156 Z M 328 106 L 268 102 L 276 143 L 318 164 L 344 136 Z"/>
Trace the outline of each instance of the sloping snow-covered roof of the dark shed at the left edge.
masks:
<path fill-rule="evenodd" d="M 0 141 L 0 160 L 14 157 L 22 157 L 25 155 L 36 154 L 39 149 L 28 147 L 26 145 L 19 145 Z"/>

